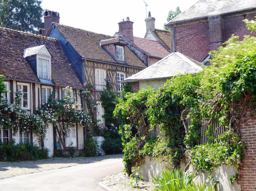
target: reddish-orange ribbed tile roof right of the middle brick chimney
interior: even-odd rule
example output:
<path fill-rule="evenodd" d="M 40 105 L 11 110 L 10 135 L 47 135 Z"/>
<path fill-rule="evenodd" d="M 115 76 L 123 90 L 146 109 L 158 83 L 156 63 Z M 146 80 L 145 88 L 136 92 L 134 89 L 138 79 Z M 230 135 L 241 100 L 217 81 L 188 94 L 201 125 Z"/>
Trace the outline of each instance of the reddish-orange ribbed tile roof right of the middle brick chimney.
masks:
<path fill-rule="evenodd" d="M 141 51 L 145 52 L 146 54 L 149 54 L 151 56 L 156 56 L 160 58 L 164 58 L 167 55 L 170 54 L 168 50 L 166 50 L 159 42 L 145 39 L 145 38 L 139 38 L 139 37 L 133 37 L 134 46 L 140 49 Z"/>

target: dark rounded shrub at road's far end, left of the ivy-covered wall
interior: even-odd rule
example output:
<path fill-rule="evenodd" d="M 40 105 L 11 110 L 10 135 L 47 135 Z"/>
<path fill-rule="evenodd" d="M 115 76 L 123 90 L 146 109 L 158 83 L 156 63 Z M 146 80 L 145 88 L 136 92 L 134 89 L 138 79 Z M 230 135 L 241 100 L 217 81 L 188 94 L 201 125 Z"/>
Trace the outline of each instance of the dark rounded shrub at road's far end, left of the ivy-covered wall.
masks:
<path fill-rule="evenodd" d="M 123 151 L 122 140 L 118 138 L 103 141 L 101 147 L 105 149 L 106 154 L 117 154 Z"/>

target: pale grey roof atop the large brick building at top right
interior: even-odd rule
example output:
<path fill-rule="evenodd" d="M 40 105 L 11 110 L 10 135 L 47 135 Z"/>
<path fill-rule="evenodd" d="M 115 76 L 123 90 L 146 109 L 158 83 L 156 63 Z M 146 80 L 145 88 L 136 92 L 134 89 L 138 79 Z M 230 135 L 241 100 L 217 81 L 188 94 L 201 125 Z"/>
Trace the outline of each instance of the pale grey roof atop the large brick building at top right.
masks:
<path fill-rule="evenodd" d="M 255 0 L 200 0 L 167 24 L 256 8 Z"/>

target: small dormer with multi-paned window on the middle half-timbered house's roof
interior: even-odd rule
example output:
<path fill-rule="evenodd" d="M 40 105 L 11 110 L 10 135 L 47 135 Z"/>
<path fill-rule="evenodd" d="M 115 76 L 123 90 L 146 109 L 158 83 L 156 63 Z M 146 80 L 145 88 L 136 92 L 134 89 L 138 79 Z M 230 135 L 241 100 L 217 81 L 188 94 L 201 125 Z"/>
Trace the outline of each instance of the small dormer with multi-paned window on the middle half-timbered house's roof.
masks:
<path fill-rule="evenodd" d="M 125 63 L 124 46 L 128 43 L 119 37 L 109 38 L 100 41 L 100 45 L 115 58 L 117 62 Z"/>

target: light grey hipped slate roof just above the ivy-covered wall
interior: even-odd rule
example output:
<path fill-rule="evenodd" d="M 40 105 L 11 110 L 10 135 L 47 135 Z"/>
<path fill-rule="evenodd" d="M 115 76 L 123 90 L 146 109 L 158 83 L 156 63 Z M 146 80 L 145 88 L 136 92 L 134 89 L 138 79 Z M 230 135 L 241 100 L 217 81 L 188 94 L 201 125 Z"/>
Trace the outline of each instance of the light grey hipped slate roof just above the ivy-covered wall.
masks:
<path fill-rule="evenodd" d="M 180 52 L 173 52 L 139 73 L 124 79 L 122 82 L 170 79 L 178 73 L 198 73 L 202 70 L 202 66 L 204 66 L 202 63 L 199 63 Z"/>

